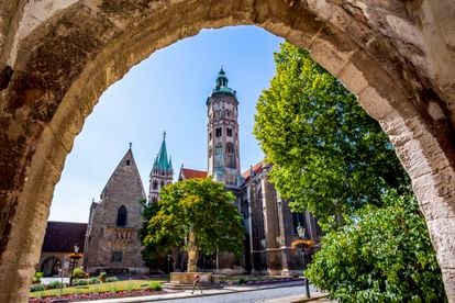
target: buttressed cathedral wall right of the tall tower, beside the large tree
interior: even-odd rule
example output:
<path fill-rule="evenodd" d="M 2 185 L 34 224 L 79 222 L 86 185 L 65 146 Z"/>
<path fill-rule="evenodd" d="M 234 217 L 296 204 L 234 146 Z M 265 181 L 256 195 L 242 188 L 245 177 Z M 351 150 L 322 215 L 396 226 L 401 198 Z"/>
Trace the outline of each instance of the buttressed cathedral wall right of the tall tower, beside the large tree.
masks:
<path fill-rule="evenodd" d="M 306 238 L 319 242 L 321 229 L 309 213 L 291 213 L 288 201 L 280 199 L 269 182 L 268 166 L 251 171 L 242 187 L 241 212 L 245 218 L 248 245 L 245 268 L 254 274 L 293 276 L 303 269 L 302 251 L 292 248 L 298 239 L 296 227 L 302 225 Z M 247 210 L 247 213 L 245 213 Z"/>

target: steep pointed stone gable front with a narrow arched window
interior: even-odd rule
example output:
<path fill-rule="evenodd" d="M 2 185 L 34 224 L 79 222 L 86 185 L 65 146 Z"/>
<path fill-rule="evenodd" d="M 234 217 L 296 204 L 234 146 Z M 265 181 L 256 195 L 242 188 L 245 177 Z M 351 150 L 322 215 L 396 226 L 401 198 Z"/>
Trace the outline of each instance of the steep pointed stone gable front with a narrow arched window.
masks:
<path fill-rule="evenodd" d="M 130 149 L 106 184 L 101 201 L 90 216 L 85 251 L 85 266 L 89 272 L 120 268 L 137 271 L 144 267 L 138 237 L 143 223 L 141 199 L 145 199 L 144 188 Z M 118 225 L 118 211 L 122 205 L 126 207 L 125 226 Z M 122 254 L 121 261 L 112 259 L 114 251 Z"/>

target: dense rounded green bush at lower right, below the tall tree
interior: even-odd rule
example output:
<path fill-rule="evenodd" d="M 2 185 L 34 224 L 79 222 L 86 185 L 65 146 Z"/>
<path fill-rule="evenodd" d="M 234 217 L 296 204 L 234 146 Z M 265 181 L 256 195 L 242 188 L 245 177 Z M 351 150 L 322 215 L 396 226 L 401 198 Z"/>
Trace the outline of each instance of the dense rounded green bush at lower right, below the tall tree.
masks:
<path fill-rule="evenodd" d="M 342 302 L 445 302 L 425 221 L 412 194 L 384 194 L 323 238 L 306 274 Z"/>

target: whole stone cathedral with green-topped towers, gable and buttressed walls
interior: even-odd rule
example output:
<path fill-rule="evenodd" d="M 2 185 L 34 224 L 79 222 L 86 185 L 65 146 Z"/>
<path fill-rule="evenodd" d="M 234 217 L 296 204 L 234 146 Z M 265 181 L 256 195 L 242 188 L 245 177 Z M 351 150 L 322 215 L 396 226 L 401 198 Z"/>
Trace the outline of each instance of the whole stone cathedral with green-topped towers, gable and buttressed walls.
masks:
<path fill-rule="evenodd" d="M 212 178 L 225 186 L 236 197 L 236 206 L 243 216 L 245 229 L 244 254 L 241 259 L 232 254 L 220 251 L 217 256 L 201 256 L 198 266 L 201 270 L 220 273 L 253 274 L 300 274 L 303 268 L 301 251 L 291 247 L 298 238 L 298 227 L 303 227 L 306 238 L 319 243 L 321 229 L 317 220 L 308 212 L 291 213 L 288 202 L 268 180 L 270 166 L 260 161 L 241 172 L 238 141 L 238 100 L 236 91 L 229 87 L 223 69 L 215 80 L 215 87 L 207 99 L 207 171 L 181 166 L 178 180 L 191 178 Z M 148 268 L 141 257 L 140 229 L 143 224 L 143 203 L 156 203 L 163 187 L 173 182 L 171 158 L 167 155 L 166 133 L 159 152 L 153 162 L 148 195 L 134 160 L 131 144 L 123 158 L 109 178 L 99 201 L 90 206 L 87 225 L 79 227 L 82 265 L 88 272 L 101 270 L 113 274 L 145 274 Z M 145 202 L 147 201 L 147 202 Z M 53 232 L 46 231 L 46 248 L 43 246 L 37 270 L 55 272 L 56 265 L 65 258 L 64 251 L 52 248 Z M 59 223 L 60 225 L 74 223 Z M 60 226 L 60 228 L 63 228 Z M 68 227 L 70 228 L 70 227 Z M 55 228 L 54 228 L 55 229 Z M 84 229 L 84 231 L 82 231 Z M 55 232 L 54 232 L 55 233 Z M 84 240 L 80 234 L 85 233 Z M 51 246 L 49 246 L 51 244 Z M 70 247 L 71 245 L 67 245 Z M 52 251 L 47 251 L 47 250 Z M 69 249 L 70 248 L 65 248 Z M 57 249 L 58 250 L 58 249 Z M 57 255 L 60 254 L 60 255 Z M 173 249 L 174 270 L 185 270 L 185 254 Z M 52 262 L 49 262 L 49 258 Z M 169 258 L 168 258 L 169 259 Z M 169 268 L 167 265 L 165 268 Z M 163 270 L 166 270 L 166 269 Z"/>

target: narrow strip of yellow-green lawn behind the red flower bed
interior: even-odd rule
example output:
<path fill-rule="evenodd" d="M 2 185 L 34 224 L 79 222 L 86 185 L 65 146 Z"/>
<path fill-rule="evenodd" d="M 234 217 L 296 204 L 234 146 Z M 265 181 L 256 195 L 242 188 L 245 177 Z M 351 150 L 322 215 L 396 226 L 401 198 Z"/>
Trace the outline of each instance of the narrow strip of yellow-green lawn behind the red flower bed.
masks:
<path fill-rule="evenodd" d="M 118 291 L 132 291 L 143 290 L 151 285 L 151 283 L 160 283 L 164 280 L 125 280 L 118 282 L 109 282 L 102 284 L 80 285 L 55 290 L 35 291 L 30 293 L 30 298 L 43 298 L 48 295 L 62 295 L 65 294 L 80 294 L 80 293 L 97 293 L 97 292 L 118 292 Z"/>

